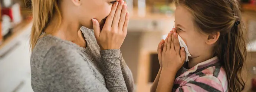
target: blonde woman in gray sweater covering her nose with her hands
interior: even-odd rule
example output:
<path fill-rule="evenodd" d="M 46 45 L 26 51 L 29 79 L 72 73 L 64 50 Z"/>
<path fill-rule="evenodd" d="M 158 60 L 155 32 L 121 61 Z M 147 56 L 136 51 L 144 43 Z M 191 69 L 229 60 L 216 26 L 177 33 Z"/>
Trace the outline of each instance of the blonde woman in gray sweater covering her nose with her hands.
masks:
<path fill-rule="evenodd" d="M 32 9 L 35 92 L 133 91 L 119 50 L 129 20 L 124 1 L 32 0 Z"/>

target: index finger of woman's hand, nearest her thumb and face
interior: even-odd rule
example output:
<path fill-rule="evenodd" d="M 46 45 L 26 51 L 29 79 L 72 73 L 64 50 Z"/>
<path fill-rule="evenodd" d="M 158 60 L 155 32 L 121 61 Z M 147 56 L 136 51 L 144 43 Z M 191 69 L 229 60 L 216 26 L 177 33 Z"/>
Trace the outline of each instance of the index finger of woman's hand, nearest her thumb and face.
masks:
<path fill-rule="evenodd" d="M 112 6 L 111 12 L 108 15 L 108 17 L 106 18 L 106 22 L 105 22 L 103 28 L 106 28 L 106 27 L 111 28 L 117 5 L 118 5 L 118 2 L 115 2 L 115 4 Z"/>

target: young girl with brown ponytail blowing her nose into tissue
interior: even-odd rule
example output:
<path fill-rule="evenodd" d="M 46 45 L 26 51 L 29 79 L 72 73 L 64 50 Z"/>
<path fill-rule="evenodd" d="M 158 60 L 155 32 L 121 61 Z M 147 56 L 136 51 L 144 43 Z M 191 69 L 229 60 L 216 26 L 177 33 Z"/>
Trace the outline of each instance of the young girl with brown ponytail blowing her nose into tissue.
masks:
<path fill-rule="evenodd" d="M 157 92 L 241 92 L 246 59 L 236 0 L 174 0 L 175 29 L 158 45 Z M 178 35 L 191 54 L 178 42 Z"/>

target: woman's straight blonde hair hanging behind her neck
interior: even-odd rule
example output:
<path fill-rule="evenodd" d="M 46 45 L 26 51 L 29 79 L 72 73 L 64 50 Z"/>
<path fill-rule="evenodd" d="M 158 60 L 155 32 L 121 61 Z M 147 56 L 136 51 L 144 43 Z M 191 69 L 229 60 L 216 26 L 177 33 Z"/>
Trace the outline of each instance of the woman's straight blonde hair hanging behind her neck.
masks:
<path fill-rule="evenodd" d="M 27 1 L 27 3 L 29 3 L 30 1 Z M 42 31 L 47 27 L 50 20 L 53 18 L 53 15 L 56 15 L 56 18 L 58 18 L 58 24 L 56 24 L 56 26 L 60 25 L 61 14 L 58 7 L 58 0 L 32 0 L 32 2 L 30 3 L 32 4 L 33 13 L 33 26 L 30 37 L 30 48 L 31 50 L 33 50 Z"/>

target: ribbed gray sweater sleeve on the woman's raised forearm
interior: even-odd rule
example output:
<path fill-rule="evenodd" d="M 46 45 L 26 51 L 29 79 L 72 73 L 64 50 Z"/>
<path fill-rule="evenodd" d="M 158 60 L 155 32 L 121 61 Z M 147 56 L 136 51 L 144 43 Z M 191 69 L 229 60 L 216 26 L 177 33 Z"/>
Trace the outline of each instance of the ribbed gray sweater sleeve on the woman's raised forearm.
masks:
<path fill-rule="evenodd" d="M 112 92 L 128 92 L 121 70 L 121 56 L 121 51 L 118 49 L 101 51 L 106 87 Z"/>

